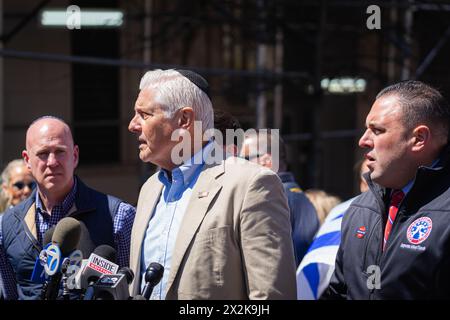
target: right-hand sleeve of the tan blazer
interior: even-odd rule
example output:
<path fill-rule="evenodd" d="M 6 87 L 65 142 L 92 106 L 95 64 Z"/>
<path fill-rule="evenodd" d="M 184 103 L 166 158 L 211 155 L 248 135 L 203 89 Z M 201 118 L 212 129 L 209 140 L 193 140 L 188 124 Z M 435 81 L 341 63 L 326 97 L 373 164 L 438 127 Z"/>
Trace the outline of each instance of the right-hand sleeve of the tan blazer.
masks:
<path fill-rule="evenodd" d="M 250 299 L 296 299 L 287 199 L 271 171 L 257 173 L 244 196 L 240 240 Z"/>

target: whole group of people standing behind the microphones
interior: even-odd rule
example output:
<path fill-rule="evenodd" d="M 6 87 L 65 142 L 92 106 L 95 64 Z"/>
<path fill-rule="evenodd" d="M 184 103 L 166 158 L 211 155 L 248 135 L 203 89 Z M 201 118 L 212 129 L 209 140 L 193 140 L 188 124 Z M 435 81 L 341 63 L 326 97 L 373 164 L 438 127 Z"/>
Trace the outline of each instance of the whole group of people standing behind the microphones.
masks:
<path fill-rule="evenodd" d="M 361 194 L 344 202 L 303 191 L 277 130 L 244 132 L 214 111 L 197 73 L 149 71 L 139 90 L 128 129 L 158 170 L 136 208 L 75 175 L 64 120 L 29 125 L 22 159 L 1 175 L 2 299 L 41 298 L 33 269 L 66 217 L 82 225 L 83 257 L 115 248 L 134 273 L 131 296 L 158 263 L 150 299 L 450 297 L 450 108 L 436 89 L 403 81 L 377 95 L 359 141 Z"/>

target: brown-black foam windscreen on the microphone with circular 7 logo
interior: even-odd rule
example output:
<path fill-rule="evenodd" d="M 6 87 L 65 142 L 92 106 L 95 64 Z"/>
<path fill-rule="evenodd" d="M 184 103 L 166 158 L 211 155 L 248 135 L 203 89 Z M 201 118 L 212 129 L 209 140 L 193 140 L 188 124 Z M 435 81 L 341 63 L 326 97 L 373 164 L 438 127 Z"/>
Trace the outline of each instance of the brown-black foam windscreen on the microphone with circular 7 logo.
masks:
<path fill-rule="evenodd" d="M 80 241 L 81 227 L 78 220 L 66 217 L 61 219 L 53 232 L 52 242 L 59 246 L 61 254 L 68 256 L 76 250 Z"/>

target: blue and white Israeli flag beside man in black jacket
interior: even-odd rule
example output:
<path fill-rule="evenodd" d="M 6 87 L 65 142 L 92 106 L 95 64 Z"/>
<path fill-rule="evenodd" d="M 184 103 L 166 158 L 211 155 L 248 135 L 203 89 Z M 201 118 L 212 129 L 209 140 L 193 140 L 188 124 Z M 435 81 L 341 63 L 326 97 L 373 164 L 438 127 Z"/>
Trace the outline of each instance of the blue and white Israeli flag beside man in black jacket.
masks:
<path fill-rule="evenodd" d="M 355 198 L 334 207 L 314 237 L 297 269 L 298 300 L 317 300 L 328 287 L 341 243 L 342 218 Z"/>

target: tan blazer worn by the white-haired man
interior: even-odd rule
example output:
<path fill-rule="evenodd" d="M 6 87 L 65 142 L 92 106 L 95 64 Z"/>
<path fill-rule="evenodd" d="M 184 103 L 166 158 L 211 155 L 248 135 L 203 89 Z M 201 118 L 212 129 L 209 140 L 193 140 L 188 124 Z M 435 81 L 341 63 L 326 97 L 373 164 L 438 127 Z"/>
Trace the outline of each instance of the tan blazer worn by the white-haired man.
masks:
<path fill-rule="evenodd" d="M 205 164 L 176 239 L 166 299 L 296 299 L 289 209 L 278 176 L 228 158 Z M 131 235 L 132 296 L 140 293 L 141 248 L 161 194 L 143 185 Z"/>

